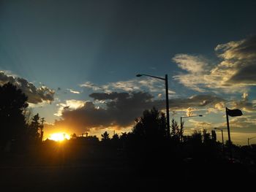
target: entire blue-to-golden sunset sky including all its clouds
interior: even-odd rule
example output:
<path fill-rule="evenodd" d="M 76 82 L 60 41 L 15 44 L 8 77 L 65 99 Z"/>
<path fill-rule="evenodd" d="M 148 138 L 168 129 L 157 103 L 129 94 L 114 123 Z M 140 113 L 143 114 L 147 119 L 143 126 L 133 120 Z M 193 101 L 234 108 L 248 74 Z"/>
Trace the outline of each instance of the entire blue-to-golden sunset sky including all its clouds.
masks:
<path fill-rule="evenodd" d="M 44 117 L 45 138 L 130 131 L 143 110 L 185 134 L 226 128 L 256 136 L 255 1 L 0 1 L 0 84 L 12 82 Z M 227 131 L 225 139 L 227 139 Z M 221 139 L 217 132 L 217 139 Z M 251 143 L 256 139 L 252 139 Z"/>

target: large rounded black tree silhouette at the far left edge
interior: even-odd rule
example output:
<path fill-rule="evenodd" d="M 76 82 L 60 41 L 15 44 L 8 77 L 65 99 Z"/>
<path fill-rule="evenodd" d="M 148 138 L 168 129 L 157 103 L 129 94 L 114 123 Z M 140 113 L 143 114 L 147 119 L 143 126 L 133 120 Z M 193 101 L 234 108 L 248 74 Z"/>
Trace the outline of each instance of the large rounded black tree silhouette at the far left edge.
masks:
<path fill-rule="evenodd" d="M 27 97 L 11 83 L 0 86 L 0 145 L 12 139 L 22 139 L 26 133 L 23 110 L 28 107 Z"/>

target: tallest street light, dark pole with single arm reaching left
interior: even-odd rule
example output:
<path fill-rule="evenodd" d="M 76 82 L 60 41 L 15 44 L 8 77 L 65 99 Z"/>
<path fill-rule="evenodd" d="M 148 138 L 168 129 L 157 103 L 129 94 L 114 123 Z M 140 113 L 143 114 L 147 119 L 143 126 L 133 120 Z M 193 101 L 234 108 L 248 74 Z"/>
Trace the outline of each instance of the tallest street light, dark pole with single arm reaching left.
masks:
<path fill-rule="evenodd" d="M 165 100 L 166 100 L 166 119 L 167 119 L 167 137 L 170 137 L 170 115 L 169 115 L 169 98 L 168 98 L 168 77 L 165 74 L 165 78 L 156 77 L 149 74 L 137 74 L 136 77 L 147 76 L 165 81 Z"/>

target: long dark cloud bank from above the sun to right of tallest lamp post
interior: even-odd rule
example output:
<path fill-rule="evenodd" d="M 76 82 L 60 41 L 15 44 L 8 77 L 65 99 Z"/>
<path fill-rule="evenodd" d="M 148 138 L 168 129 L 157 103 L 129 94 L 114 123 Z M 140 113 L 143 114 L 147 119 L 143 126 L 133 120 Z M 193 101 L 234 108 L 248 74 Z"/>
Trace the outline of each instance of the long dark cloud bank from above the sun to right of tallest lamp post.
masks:
<path fill-rule="evenodd" d="M 62 111 L 62 120 L 56 126 L 70 125 L 75 131 L 89 131 L 90 128 L 109 126 L 130 126 L 143 110 L 157 107 L 165 109 L 165 100 L 154 100 L 149 93 L 92 93 L 94 99 L 105 100 L 105 107 L 96 107 L 91 101 L 76 110 L 69 108 Z M 187 107 L 205 107 L 223 99 L 217 96 L 192 96 L 188 99 L 170 99 L 170 110 Z"/>

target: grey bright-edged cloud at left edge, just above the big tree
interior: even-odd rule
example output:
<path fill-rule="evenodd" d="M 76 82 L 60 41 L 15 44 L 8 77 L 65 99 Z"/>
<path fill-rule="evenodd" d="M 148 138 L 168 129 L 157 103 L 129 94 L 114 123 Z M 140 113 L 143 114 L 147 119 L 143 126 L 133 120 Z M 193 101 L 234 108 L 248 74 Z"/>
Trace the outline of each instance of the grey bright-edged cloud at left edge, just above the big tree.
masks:
<path fill-rule="evenodd" d="M 26 79 L 15 77 L 14 75 L 0 71 L 0 85 L 4 85 L 7 82 L 20 88 L 23 93 L 28 96 L 28 102 L 31 104 L 38 104 L 43 101 L 51 102 L 54 100 L 55 91 L 53 89 L 50 89 L 45 85 L 37 88 L 33 83 L 28 82 Z"/>

